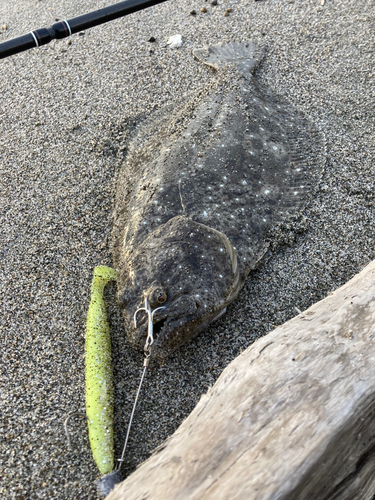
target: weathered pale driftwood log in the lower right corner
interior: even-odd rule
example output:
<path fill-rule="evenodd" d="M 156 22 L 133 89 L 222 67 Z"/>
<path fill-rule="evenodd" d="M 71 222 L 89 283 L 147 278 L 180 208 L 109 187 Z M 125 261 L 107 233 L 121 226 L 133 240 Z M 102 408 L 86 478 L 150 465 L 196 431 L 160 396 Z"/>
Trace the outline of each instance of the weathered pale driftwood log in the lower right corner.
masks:
<path fill-rule="evenodd" d="M 107 499 L 374 493 L 375 261 L 244 351 Z"/>

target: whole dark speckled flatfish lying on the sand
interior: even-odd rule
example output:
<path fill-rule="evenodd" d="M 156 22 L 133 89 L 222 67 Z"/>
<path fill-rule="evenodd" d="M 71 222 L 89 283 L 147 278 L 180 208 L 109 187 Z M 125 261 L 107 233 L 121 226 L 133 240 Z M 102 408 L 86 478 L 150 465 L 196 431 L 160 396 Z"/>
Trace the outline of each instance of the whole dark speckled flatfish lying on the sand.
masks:
<path fill-rule="evenodd" d="M 257 83 L 250 42 L 196 50 L 212 85 L 159 112 L 129 145 L 119 175 L 113 254 L 131 341 L 143 348 L 144 297 L 164 358 L 225 312 L 268 246 L 298 214 L 324 161 L 321 134 Z M 197 61 L 195 61 L 197 63 Z"/>

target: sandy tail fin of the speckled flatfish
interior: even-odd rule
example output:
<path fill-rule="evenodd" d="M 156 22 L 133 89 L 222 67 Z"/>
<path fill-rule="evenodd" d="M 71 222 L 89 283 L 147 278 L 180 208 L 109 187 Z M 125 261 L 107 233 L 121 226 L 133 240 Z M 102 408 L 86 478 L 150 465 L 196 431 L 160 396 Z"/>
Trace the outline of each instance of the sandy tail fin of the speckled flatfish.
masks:
<path fill-rule="evenodd" d="M 234 64 L 243 76 L 249 76 L 262 60 L 264 49 L 253 42 L 228 42 L 196 49 L 193 55 L 217 70 Z"/>

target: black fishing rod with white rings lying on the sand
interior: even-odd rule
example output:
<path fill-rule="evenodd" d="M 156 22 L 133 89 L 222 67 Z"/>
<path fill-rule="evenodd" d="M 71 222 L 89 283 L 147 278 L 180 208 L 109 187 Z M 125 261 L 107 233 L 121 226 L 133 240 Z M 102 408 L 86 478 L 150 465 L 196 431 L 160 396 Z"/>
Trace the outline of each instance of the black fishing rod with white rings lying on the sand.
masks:
<path fill-rule="evenodd" d="M 165 2 L 166 0 L 127 0 L 126 2 L 116 3 L 103 9 L 73 17 L 67 21 L 59 21 L 50 28 L 40 28 L 31 31 L 27 35 L 12 38 L 6 42 L 0 43 L 0 59 L 46 45 L 52 40 L 60 40 L 68 36 L 87 30 L 99 24 L 108 23 L 119 17 L 124 17 L 133 12 L 147 9 L 153 5 Z"/>

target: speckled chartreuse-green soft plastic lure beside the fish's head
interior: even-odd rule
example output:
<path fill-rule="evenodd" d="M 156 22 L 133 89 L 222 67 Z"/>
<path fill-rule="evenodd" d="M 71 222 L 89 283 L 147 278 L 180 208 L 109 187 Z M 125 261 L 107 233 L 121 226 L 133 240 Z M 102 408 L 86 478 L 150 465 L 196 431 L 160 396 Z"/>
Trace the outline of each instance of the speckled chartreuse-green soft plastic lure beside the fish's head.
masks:
<path fill-rule="evenodd" d="M 101 474 L 113 470 L 113 382 L 111 338 L 103 293 L 114 269 L 94 269 L 86 325 L 86 415 L 92 454 Z"/>

